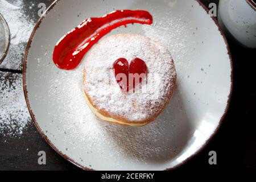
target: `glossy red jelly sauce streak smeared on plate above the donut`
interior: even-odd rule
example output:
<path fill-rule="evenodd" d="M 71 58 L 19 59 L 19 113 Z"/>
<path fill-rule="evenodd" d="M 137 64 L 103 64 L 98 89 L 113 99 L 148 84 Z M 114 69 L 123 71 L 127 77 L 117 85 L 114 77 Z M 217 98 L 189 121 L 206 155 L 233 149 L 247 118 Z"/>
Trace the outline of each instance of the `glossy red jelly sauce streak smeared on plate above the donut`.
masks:
<path fill-rule="evenodd" d="M 85 19 L 57 42 L 53 51 L 53 62 L 61 69 L 74 69 L 85 53 L 114 28 L 130 23 L 152 22 L 152 15 L 144 10 L 116 10 L 101 18 Z"/>

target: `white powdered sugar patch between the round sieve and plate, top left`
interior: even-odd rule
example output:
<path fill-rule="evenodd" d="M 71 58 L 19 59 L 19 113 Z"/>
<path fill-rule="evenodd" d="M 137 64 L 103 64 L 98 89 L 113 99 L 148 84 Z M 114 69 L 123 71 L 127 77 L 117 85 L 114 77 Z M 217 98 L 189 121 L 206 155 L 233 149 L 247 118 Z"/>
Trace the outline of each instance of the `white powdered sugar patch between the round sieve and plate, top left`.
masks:
<path fill-rule="evenodd" d="M 34 21 L 25 15 L 23 0 L 0 0 L 0 13 L 6 19 L 11 33 L 9 52 L 0 67 L 21 69 L 23 53 L 34 27 Z"/>

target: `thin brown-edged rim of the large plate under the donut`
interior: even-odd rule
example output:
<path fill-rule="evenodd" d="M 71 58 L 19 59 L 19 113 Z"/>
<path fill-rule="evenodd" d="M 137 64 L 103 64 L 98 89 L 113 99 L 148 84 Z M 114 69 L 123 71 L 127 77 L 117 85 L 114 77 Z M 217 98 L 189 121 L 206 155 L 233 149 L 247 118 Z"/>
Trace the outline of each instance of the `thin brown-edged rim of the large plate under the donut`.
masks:
<path fill-rule="evenodd" d="M 27 84 L 26 84 L 26 71 L 27 71 L 27 56 L 28 56 L 28 52 L 30 50 L 30 46 L 31 46 L 31 43 L 32 43 L 32 39 L 35 35 L 35 32 L 36 30 L 39 28 L 40 26 L 40 23 L 42 22 L 42 20 L 44 19 L 44 17 L 46 17 L 47 13 L 56 5 L 57 2 L 59 2 L 60 0 L 55 0 L 49 7 L 48 9 L 44 12 L 44 14 L 38 19 L 38 21 L 36 22 L 35 24 L 35 27 L 33 29 L 33 31 L 31 32 L 31 35 L 30 35 L 30 39 L 28 40 L 28 43 L 27 43 L 27 47 L 26 47 L 26 51 L 24 53 L 24 57 L 23 57 L 23 69 L 22 69 L 22 84 L 23 84 L 23 92 L 24 92 L 24 97 L 25 97 L 25 100 L 26 100 L 26 104 L 27 104 L 27 108 L 28 108 L 28 111 L 31 115 L 31 118 L 32 118 L 32 122 L 34 123 L 36 129 L 39 131 L 40 135 L 42 135 L 42 137 L 44 138 L 44 140 L 46 140 L 46 142 L 49 144 L 49 146 L 51 146 L 53 148 L 53 150 L 55 150 L 59 155 L 61 155 L 64 159 L 68 160 L 69 162 L 71 162 L 72 164 L 74 164 L 75 166 L 81 168 L 81 169 L 84 169 L 84 170 L 88 170 L 88 171 L 96 171 L 96 169 L 92 169 L 92 168 L 88 168 L 88 167 L 85 167 L 85 166 L 82 166 L 81 164 L 75 162 L 75 160 L 71 159 L 69 156 L 63 154 L 63 152 L 61 152 L 59 149 L 57 149 L 57 147 L 55 147 L 55 145 L 51 142 L 51 140 L 48 139 L 48 137 L 43 133 L 43 131 L 40 129 L 40 126 L 38 125 L 38 122 L 36 121 L 36 118 L 35 118 L 35 115 L 34 115 L 34 112 L 32 111 L 31 109 L 31 106 L 30 106 L 30 102 L 28 100 L 28 92 L 27 92 Z M 207 11 L 207 13 L 209 12 L 209 10 L 207 9 L 207 7 L 205 7 L 203 5 L 203 3 L 201 3 L 199 0 L 195 0 L 197 3 L 199 3 L 199 5 L 201 7 L 203 7 L 203 9 L 205 11 Z M 231 97 L 232 97 L 232 92 L 233 92 L 233 63 L 232 63 L 232 56 L 230 54 L 230 49 L 229 49 L 229 46 L 228 46 L 228 41 L 226 40 L 226 37 L 224 35 L 224 32 L 222 32 L 221 30 L 221 27 L 220 25 L 218 24 L 217 20 L 211 16 L 213 22 L 216 24 L 216 26 L 218 27 L 218 31 L 220 31 L 220 34 L 226 44 L 226 49 L 227 49 L 227 52 L 228 52 L 228 55 L 229 55 L 229 60 L 230 60 L 230 67 L 231 67 L 231 73 L 230 73 L 230 78 L 231 78 L 231 85 L 230 85 L 230 90 L 229 90 L 229 96 L 228 96 L 228 101 L 226 103 L 226 107 L 225 107 L 225 110 L 224 110 L 224 113 L 222 114 L 222 117 L 220 119 L 220 122 L 218 122 L 218 125 L 216 127 L 216 129 L 213 131 L 212 135 L 210 135 L 209 139 L 206 140 L 206 142 L 191 156 L 189 156 L 187 159 L 185 159 L 183 162 L 177 164 L 176 166 L 174 167 L 171 167 L 171 168 L 167 168 L 165 170 L 173 170 L 173 169 L 176 169 L 180 166 L 182 166 L 183 164 L 187 163 L 188 160 L 192 159 L 194 156 L 196 156 L 197 154 L 199 154 L 201 151 L 203 151 L 203 149 L 207 146 L 207 144 L 210 142 L 210 140 L 212 140 L 212 138 L 214 137 L 214 135 L 217 133 L 218 129 L 220 129 L 220 126 L 222 124 L 222 122 L 224 121 L 224 118 L 225 118 L 225 115 L 226 113 L 228 112 L 228 108 L 229 108 L 229 104 L 230 104 L 230 100 L 231 100 Z"/>

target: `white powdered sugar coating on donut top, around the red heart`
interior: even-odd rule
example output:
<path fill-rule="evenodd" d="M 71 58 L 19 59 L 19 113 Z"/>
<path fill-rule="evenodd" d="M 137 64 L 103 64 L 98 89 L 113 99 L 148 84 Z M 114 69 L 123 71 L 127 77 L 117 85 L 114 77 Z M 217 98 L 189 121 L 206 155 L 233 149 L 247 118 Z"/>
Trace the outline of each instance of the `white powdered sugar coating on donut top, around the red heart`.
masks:
<path fill-rule="evenodd" d="M 147 82 L 135 93 L 122 93 L 114 77 L 113 63 L 124 57 L 145 61 Z M 158 42 L 142 35 L 112 35 L 85 56 L 84 90 L 92 104 L 114 117 L 129 122 L 156 117 L 170 100 L 175 87 L 176 71 L 171 53 Z"/>

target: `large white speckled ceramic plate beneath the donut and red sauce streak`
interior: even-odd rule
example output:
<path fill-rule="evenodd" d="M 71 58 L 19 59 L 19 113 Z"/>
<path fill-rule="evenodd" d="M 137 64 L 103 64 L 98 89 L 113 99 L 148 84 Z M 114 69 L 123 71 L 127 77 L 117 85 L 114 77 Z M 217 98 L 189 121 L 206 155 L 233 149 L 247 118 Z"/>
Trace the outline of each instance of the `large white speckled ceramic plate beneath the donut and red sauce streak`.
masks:
<path fill-rule="evenodd" d="M 147 126 L 99 121 L 85 104 L 83 63 L 64 71 L 52 61 L 61 36 L 85 18 L 115 9 L 148 10 L 154 24 L 129 25 L 111 34 L 132 32 L 159 40 L 175 60 L 174 97 Z M 52 148 L 84 169 L 162 170 L 183 164 L 216 133 L 232 90 L 226 40 L 215 20 L 193 0 L 57 1 L 36 24 L 23 68 L 24 94 L 36 127 Z"/>

